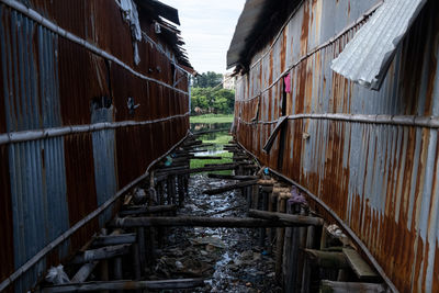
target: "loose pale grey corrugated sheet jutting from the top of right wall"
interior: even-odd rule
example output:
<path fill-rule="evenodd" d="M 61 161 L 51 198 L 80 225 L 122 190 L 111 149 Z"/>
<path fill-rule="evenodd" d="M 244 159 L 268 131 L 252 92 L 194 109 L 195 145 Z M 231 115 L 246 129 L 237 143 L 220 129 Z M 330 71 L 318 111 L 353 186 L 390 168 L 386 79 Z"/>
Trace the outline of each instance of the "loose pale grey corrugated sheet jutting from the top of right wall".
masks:
<path fill-rule="evenodd" d="M 336 72 L 380 89 L 395 49 L 427 0 L 386 0 L 333 61 Z"/>

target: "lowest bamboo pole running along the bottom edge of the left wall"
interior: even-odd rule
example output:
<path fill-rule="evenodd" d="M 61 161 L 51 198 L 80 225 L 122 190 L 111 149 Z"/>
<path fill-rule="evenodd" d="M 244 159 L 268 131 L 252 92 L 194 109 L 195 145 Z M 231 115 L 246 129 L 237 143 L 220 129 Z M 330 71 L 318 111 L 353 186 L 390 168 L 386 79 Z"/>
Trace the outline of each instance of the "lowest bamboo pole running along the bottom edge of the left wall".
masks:
<path fill-rule="evenodd" d="M 80 219 L 78 223 L 76 223 L 71 228 L 63 233 L 58 238 L 53 240 L 50 244 L 48 244 L 46 247 L 44 247 L 42 250 L 40 250 L 34 257 L 32 257 L 30 260 L 27 260 L 22 267 L 20 267 L 14 273 L 12 273 L 8 279 L 5 279 L 2 283 L 0 283 L 0 292 L 7 289 L 12 282 L 14 282 L 18 278 L 20 278 L 23 273 L 29 271 L 35 263 L 37 263 L 44 256 L 46 256 L 48 252 L 50 252 L 54 248 L 59 246 L 61 243 L 65 240 L 69 239 L 69 237 L 77 232 L 79 228 L 81 228 L 83 225 L 89 223 L 91 219 L 95 218 L 98 215 L 100 215 L 102 212 L 104 212 L 108 207 L 110 207 L 120 196 L 125 194 L 130 189 L 138 184 L 142 180 L 146 179 L 149 176 L 149 170 L 150 168 L 156 165 L 158 161 L 160 161 L 162 158 L 168 156 L 176 147 L 178 147 L 189 135 L 189 131 L 187 135 L 180 139 L 176 145 L 173 145 L 168 151 L 166 151 L 164 155 L 151 161 L 148 167 L 146 168 L 146 171 L 143 176 L 138 177 L 127 185 L 125 185 L 123 189 L 121 189 L 116 194 L 114 194 L 111 199 L 109 199 L 105 203 L 103 203 L 101 206 L 99 206 L 97 210 L 94 210 L 92 213 L 88 214 L 86 217 Z"/>

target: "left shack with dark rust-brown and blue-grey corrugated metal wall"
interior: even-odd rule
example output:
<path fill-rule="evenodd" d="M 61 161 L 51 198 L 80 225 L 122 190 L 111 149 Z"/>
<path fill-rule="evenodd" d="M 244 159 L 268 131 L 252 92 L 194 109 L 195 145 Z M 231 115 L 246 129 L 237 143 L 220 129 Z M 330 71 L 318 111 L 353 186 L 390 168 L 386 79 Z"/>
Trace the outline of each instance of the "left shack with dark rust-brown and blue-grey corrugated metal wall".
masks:
<path fill-rule="evenodd" d="M 0 1 L 0 291 L 25 292 L 185 137 L 190 64 L 155 0 Z"/>

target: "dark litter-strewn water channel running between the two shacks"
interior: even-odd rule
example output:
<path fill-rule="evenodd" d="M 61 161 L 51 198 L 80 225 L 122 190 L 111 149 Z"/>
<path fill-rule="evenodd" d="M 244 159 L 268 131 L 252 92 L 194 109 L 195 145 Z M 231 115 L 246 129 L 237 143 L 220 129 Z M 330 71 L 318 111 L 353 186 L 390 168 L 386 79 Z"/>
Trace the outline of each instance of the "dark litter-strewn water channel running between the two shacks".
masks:
<path fill-rule="evenodd" d="M 227 126 L 229 127 L 229 124 L 215 127 Z M 200 139 L 203 139 L 203 143 L 215 140 L 218 143 L 210 147 L 205 151 L 206 155 L 224 154 L 225 160 L 230 159 L 232 155 L 225 154 L 221 144 L 232 139 L 227 133 L 209 134 Z M 192 174 L 189 196 L 178 214 L 212 217 L 246 216 L 247 203 L 240 190 L 217 195 L 206 195 L 202 192 L 204 189 L 218 188 L 232 182 L 234 181 L 207 178 L 206 173 Z M 171 277 L 206 279 L 204 288 L 175 292 L 282 292 L 275 284 L 273 255 L 267 247 L 258 246 L 258 229 L 178 227 L 169 228 L 168 235 L 159 251 L 157 263 L 150 272 L 151 279 Z"/>

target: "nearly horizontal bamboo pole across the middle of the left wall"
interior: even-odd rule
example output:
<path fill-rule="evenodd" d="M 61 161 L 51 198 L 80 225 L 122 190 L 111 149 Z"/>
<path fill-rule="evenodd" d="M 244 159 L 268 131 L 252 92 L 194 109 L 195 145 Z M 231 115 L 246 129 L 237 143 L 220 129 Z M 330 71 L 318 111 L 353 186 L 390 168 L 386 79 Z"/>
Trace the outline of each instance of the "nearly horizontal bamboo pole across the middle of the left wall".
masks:
<path fill-rule="evenodd" d="M 64 136 L 64 135 L 68 135 L 68 134 L 98 132 L 98 131 L 103 131 L 103 129 L 114 129 L 114 128 L 130 127 L 130 126 L 142 126 L 142 125 L 147 125 L 147 124 L 166 122 L 166 121 L 178 119 L 178 117 L 185 117 L 189 115 L 190 115 L 190 112 L 187 112 L 184 114 L 168 116 L 168 117 L 158 119 L 158 120 L 150 120 L 150 121 L 101 122 L 101 123 L 87 124 L 87 125 L 74 125 L 74 126 L 65 126 L 65 127 L 45 128 L 45 129 L 41 129 L 41 131 L 12 132 L 12 133 L 7 133 L 7 134 L 0 134 L 0 145 L 36 140 L 36 139 L 43 139 L 43 138 L 48 138 L 48 137 L 57 137 L 57 136 Z"/>

